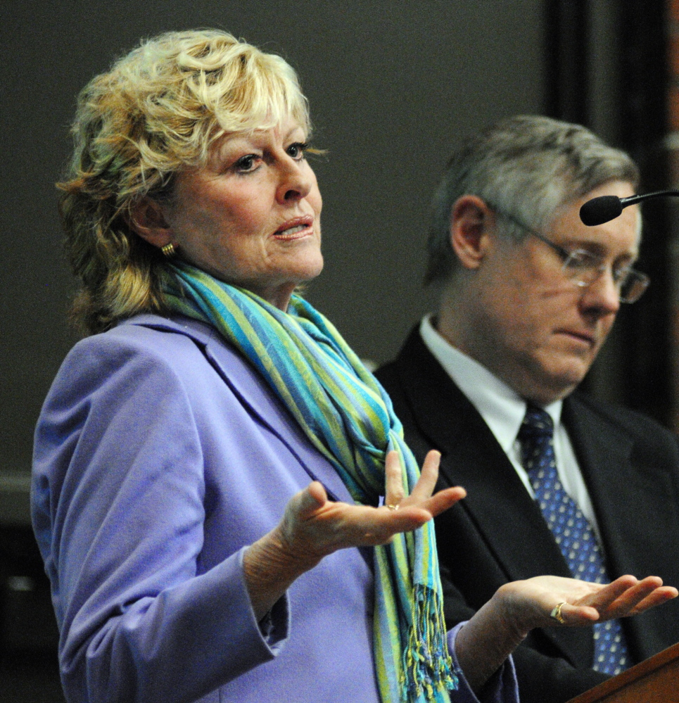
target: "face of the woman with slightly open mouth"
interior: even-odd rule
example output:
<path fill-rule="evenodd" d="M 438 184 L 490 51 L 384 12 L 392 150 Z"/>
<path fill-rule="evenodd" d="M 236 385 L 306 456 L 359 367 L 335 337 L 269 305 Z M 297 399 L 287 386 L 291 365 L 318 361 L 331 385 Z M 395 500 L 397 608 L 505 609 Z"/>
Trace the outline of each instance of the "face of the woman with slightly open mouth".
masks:
<path fill-rule="evenodd" d="M 323 268 L 322 207 L 293 120 L 223 137 L 207 165 L 177 177 L 163 206 L 179 255 L 285 310 L 295 286 Z"/>

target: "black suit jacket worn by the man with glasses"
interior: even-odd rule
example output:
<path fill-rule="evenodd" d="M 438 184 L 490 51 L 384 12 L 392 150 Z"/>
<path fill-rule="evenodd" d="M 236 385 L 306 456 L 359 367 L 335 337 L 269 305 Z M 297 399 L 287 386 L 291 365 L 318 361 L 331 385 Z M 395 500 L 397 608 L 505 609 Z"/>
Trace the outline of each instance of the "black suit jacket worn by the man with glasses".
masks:
<path fill-rule="evenodd" d="M 419 462 L 441 452 L 439 488 L 468 496 L 436 519 L 448 626 L 503 583 L 570 576 L 540 509 L 486 422 L 414 330 L 376 376 Z M 562 419 L 587 483 L 611 578 L 661 576 L 679 586 L 679 442 L 653 420 L 574 393 Z M 679 599 L 623 621 L 636 663 L 679 641 Z M 522 703 L 561 702 L 607 678 L 590 669 L 591 628 L 547 628 L 514 654 Z"/>

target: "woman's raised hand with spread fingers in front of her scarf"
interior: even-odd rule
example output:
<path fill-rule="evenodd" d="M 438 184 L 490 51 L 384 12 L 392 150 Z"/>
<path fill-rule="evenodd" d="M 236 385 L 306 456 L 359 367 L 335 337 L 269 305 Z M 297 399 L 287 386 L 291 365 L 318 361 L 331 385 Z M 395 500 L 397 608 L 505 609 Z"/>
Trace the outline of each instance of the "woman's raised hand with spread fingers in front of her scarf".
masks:
<path fill-rule="evenodd" d="M 424 525 L 464 498 L 467 493 L 459 486 L 432 495 L 439 460 L 436 451 L 426 455 L 419 480 L 404 498 L 398 454 L 388 452 L 381 507 L 328 500 L 319 481 L 293 495 L 279 525 L 251 545 L 243 557 L 250 602 L 258 619 L 323 557 L 346 547 L 386 544 L 395 534 Z"/>

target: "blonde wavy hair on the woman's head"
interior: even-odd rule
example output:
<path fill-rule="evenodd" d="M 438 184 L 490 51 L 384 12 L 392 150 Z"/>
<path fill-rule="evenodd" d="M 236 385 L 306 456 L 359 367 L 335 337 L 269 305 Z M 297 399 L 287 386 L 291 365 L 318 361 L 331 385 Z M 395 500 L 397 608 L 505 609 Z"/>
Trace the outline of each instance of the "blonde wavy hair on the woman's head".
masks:
<path fill-rule="evenodd" d="M 205 164 L 224 134 L 291 117 L 310 132 L 307 100 L 280 56 L 219 30 L 141 42 L 80 93 L 68 173 L 57 186 L 84 334 L 162 310 L 165 260 L 129 226 L 142 198 L 171 201 L 174 175 Z"/>

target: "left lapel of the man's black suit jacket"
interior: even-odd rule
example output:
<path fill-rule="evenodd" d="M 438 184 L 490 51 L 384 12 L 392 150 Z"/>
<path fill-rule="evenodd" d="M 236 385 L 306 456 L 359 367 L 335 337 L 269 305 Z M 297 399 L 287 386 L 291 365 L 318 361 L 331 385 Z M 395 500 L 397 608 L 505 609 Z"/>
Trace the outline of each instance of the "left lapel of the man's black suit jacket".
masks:
<path fill-rule="evenodd" d="M 504 450 L 417 330 L 397 363 L 419 429 L 441 452 L 440 481 L 467 489 L 459 507 L 469 513 L 507 581 L 544 574 L 570 577 L 538 505 Z M 544 633 L 573 662 L 580 662 L 591 647 L 588 632 L 579 628 L 549 628 Z"/>

